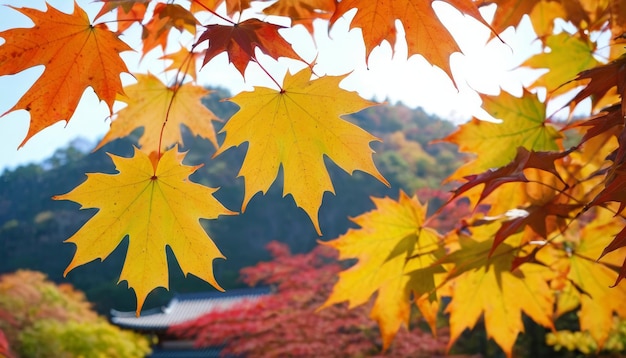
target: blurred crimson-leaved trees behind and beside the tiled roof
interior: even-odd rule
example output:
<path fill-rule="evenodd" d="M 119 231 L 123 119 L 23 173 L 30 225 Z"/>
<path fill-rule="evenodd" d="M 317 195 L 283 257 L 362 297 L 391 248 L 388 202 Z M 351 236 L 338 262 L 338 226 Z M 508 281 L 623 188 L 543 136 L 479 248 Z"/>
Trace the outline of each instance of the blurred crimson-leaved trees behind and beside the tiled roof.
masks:
<path fill-rule="evenodd" d="M 335 305 L 318 311 L 330 293 L 341 265 L 336 252 L 318 246 L 310 253 L 291 254 L 278 242 L 267 246 L 272 261 L 242 270 L 249 285 L 272 285 L 275 291 L 259 302 L 217 311 L 177 326 L 168 333 L 193 338 L 197 346 L 225 346 L 222 353 L 246 357 L 377 356 L 381 341 L 369 306 Z M 447 333 L 438 337 L 418 327 L 402 330 L 389 354 L 430 357 L 446 349 Z M 333 344 L 328 344 L 332 337 Z"/>

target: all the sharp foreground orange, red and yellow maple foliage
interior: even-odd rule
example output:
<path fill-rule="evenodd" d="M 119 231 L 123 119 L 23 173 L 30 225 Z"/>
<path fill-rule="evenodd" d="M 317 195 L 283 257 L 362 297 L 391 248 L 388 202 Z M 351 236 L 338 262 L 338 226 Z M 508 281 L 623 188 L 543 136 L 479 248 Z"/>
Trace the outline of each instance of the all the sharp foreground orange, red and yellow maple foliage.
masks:
<path fill-rule="evenodd" d="M 315 58 L 294 50 L 277 19 L 308 32 L 315 21 L 328 28 L 347 19 L 360 29 L 364 62 L 381 43 L 405 40 L 409 56 L 423 56 L 455 80 L 450 55 L 460 47 L 433 9 L 436 1 L 100 2 L 93 20 L 78 6 L 71 14 L 49 6 L 15 8 L 35 25 L 0 33 L 0 75 L 45 67 L 9 111 L 30 113 L 24 143 L 70 120 L 87 87 L 111 110 L 116 100 L 127 104 L 113 114 L 103 143 L 143 128 L 133 157 L 111 155 L 118 173 L 89 174 L 56 197 L 99 209 L 68 240 L 77 246 L 68 270 L 106 258 L 129 235 L 121 280 L 137 294 L 138 313 L 151 290 L 167 287 L 166 245 L 185 273 L 219 288 L 212 263 L 221 254 L 199 220 L 238 210 L 219 203 L 215 189 L 189 180 L 195 167 L 182 164 L 178 153 L 181 125 L 212 141 L 216 155 L 247 145 L 239 172 L 242 211 L 249 201 L 262 200 L 256 194 L 267 192 L 282 172 L 284 195 L 318 233 L 323 195 L 334 192 L 324 158 L 387 183 L 372 159 L 370 145 L 378 139 L 342 117 L 375 103 L 341 88 L 350 74 L 318 73 Z M 580 329 L 601 348 L 614 316 L 626 316 L 626 286 L 620 284 L 626 277 L 626 4 L 445 2 L 488 26 L 490 41 L 502 41 L 505 30 L 528 16 L 541 51 L 521 66 L 544 71 L 521 94 L 480 94 L 496 121 L 473 118 L 443 139 L 473 154 L 448 179 L 455 185 L 450 202 L 466 200 L 473 209 L 459 214 L 453 230 L 437 227 L 442 211 L 427 216 L 426 203 L 400 193 L 398 199 L 373 199 L 376 209 L 356 217 L 357 228 L 323 243 L 356 264 L 339 273 L 328 297 L 315 297 L 324 307 L 319 314 L 345 301 L 370 309 L 364 305 L 375 297 L 370 315 L 386 349 L 415 307 L 434 327 L 447 297 L 450 346 L 483 319 L 488 336 L 510 356 L 524 332 L 522 316 L 554 329 L 559 316 L 579 310 Z M 493 11 L 489 21 L 481 8 Z M 192 40 L 178 49 L 176 36 Z M 136 74 L 137 83 L 124 87 L 120 75 L 129 70 L 120 55 L 155 49 L 163 52 L 167 76 Z M 272 85 L 236 94 L 231 101 L 240 109 L 223 119 L 218 136 L 211 125 L 217 118 L 200 109 L 206 91 L 198 78 L 222 53 L 242 76 L 255 66 Z M 283 58 L 295 69 L 270 68 Z"/>

